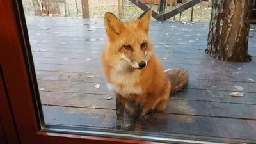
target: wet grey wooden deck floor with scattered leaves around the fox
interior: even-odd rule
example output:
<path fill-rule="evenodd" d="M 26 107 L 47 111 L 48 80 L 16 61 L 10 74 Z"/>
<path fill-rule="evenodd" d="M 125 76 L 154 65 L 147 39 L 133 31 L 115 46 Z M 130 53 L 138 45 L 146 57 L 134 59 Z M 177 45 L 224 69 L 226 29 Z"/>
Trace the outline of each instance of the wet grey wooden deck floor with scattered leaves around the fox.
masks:
<path fill-rule="evenodd" d="M 106 88 L 99 61 L 106 44 L 103 20 L 27 17 L 26 22 L 38 86 L 44 88 L 40 98 L 45 124 L 111 130 L 115 95 Z M 208 26 L 152 22 L 156 55 L 168 58 L 163 61 L 166 69 L 188 70 L 190 79 L 187 88 L 172 95 L 165 113 L 143 120 L 144 134 L 256 141 L 256 83 L 248 80 L 256 81 L 256 26 L 250 31 L 250 63 L 221 62 L 205 55 Z M 92 74 L 95 77 L 88 78 Z M 99 90 L 95 84 L 100 84 Z M 228 95 L 241 92 L 234 86 L 244 88 L 244 97 Z M 113 99 L 104 99 L 106 95 Z"/>

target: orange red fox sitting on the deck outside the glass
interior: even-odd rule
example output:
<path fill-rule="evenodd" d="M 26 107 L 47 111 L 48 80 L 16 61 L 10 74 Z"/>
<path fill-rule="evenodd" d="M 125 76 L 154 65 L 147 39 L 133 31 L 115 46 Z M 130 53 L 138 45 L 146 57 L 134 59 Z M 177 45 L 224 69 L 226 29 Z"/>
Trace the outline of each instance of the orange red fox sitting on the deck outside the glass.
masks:
<path fill-rule="evenodd" d="M 127 100 L 140 104 L 140 116 L 151 110 L 164 111 L 170 93 L 188 83 L 188 72 L 182 68 L 164 72 L 148 36 L 150 19 L 150 9 L 130 22 L 121 22 L 111 12 L 104 18 L 108 43 L 101 57 L 102 72 L 116 102 L 130 113 L 135 109 Z"/>

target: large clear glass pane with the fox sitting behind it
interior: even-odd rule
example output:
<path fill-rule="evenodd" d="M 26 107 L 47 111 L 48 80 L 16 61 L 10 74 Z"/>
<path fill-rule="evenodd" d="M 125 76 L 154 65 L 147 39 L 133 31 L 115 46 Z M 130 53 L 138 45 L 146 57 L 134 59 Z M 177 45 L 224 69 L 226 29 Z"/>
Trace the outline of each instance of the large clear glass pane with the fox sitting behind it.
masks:
<path fill-rule="evenodd" d="M 256 141 L 255 24 L 249 28 L 236 9 L 240 18 L 228 25 L 228 12 L 218 9 L 225 2 L 161 2 L 22 0 L 44 129 L 165 142 Z M 151 20 L 149 11 L 141 15 L 147 6 Z"/>

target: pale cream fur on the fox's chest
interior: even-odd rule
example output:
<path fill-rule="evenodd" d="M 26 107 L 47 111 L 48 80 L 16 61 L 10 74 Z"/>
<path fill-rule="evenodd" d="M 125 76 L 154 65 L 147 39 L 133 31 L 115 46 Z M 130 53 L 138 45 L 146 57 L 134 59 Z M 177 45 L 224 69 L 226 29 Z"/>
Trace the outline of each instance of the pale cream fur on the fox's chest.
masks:
<path fill-rule="evenodd" d="M 140 81 L 140 70 L 134 70 L 134 72 L 127 72 L 127 70 L 111 70 L 110 80 L 108 83 L 109 90 L 113 90 L 124 97 L 128 97 L 131 94 L 141 94 L 142 90 L 136 85 Z M 118 88 L 118 85 L 124 87 Z"/>

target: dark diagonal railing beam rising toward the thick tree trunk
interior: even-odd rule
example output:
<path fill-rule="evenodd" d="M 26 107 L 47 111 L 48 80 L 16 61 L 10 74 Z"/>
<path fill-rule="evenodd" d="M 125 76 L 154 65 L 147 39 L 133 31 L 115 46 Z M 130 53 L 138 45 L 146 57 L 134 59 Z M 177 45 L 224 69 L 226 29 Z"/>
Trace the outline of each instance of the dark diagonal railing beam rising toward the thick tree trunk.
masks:
<path fill-rule="evenodd" d="M 171 12 L 165 13 L 164 20 L 170 19 L 170 17 L 173 17 L 173 16 L 183 12 L 184 10 L 188 10 L 188 8 L 191 8 L 198 3 L 201 3 L 202 1 L 204 1 L 204 0 L 191 0 L 191 1 L 188 1 L 188 3 L 184 3 L 184 4 L 182 4 L 182 6 L 175 8 Z"/>

